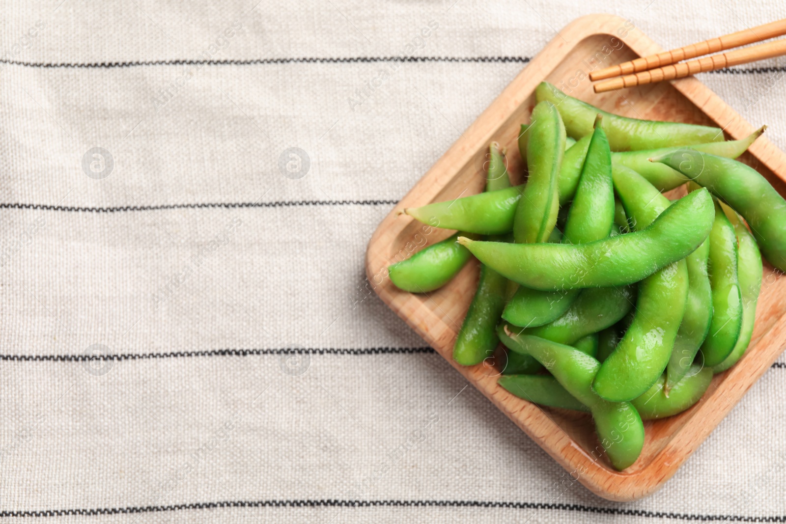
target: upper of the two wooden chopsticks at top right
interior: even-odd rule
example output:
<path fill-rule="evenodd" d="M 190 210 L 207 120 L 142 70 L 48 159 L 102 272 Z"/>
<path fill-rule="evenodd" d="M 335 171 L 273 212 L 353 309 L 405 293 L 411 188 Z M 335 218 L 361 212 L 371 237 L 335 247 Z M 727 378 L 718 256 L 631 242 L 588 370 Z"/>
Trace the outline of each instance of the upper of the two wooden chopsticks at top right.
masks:
<path fill-rule="evenodd" d="M 638 71 L 646 71 L 647 69 L 674 64 L 674 62 L 679 62 L 680 60 L 700 57 L 703 54 L 718 53 L 718 51 L 731 49 L 733 47 L 747 46 L 747 44 L 761 42 L 762 40 L 783 35 L 786 35 L 786 18 L 775 22 L 769 22 L 769 24 L 751 27 L 744 31 L 737 31 L 730 35 L 704 40 L 703 42 L 680 47 L 679 49 L 671 49 L 663 53 L 630 60 L 630 62 L 623 62 L 619 65 L 612 65 L 610 68 L 604 68 L 600 71 L 589 73 L 589 79 L 594 82 L 595 80 L 610 79 L 612 76 L 630 75 Z"/>

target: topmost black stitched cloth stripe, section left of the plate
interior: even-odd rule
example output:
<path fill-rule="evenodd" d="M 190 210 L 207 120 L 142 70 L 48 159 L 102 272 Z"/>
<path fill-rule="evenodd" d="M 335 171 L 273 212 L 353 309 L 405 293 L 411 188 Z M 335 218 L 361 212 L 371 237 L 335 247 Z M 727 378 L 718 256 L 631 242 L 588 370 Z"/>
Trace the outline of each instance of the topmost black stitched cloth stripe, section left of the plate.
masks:
<path fill-rule="evenodd" d="M 26 68 L 133 68 L 143 65 L 260 65 L 260 64 L 371 64 L 376 62 L 502 62 L 526 64 L 530 57 L 292 57 L 252 58 L 248 60 L 133 60 L 128 62 L 17 62 L 0 60 L 0 64 Z"/>

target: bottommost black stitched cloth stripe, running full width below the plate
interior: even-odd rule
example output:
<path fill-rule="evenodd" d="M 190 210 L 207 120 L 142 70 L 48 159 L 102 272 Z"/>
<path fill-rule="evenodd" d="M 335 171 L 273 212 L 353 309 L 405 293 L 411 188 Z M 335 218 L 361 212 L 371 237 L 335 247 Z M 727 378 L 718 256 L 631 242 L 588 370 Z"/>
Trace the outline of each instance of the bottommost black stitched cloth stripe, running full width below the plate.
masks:
<path fill-rule="evenodd" d="M 129 513 L 152 513 L 156 511 L 203 510 L 216 508 L 503 508 L 539 509 L 557 511 L 579 511 L 600 515 L 626 515 L 650 519 L 701 520 L 724 522 L 786 522 L 786 516 L 774 515 L 755 517 L 747 515 L 699 515 L 672 513 L 670 511 L 646 511 L 623 508 L 600 508 L 582 504 L 546 504 L 542 502 L 493 502 L 486 500 L 221 500 L 219 502 L 197 502 L 171 506 L 127 506 L 125 508 L 63 509 L 39 511 L 0 511 L 0 517 L 61 517 L 66 515 L 119 515 Z"/>

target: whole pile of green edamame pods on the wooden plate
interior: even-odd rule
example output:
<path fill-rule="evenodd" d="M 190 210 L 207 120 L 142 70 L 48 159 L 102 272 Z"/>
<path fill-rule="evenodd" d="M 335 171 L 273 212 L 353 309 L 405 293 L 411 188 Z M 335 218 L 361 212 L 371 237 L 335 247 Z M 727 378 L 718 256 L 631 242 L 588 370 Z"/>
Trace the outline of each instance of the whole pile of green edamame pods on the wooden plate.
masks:
<path fill-rule="evenodd" d="M 623 470 L 644 445 L 642 419 L 685 411 L 744 354 L 759 250 L 786 270 L 786 201 L 736 161 L 763 127 L 724 141 L 717 127 L 613 115 L 546 82 L 536 97 L 518 141 L 526 183 L 511 185 L 492 143 L 485 192 L 404 211 L 460 233 L 388 274 L 428 292 L 478 258 L 455 361 L 477 365 L 501 341 L 501 387 L 591 413 Z M 663 196 L 680 185 L 686 196 Z"/>

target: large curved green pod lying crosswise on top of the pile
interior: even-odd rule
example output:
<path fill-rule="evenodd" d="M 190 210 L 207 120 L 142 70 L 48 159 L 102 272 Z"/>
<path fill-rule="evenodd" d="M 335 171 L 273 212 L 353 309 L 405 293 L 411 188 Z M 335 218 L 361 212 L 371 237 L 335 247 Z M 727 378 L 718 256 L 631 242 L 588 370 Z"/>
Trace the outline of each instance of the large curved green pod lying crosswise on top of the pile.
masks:
<path fill-rule="evenodd" d="M 480 262 L 528 288 L 604 288 L 633 284 L 690 255 L 709 235 L 713 217 L 711 196 L 696 191 L 645 229 L 589 244 L 505 244 L 463 236 L 458 241 Z"/>

